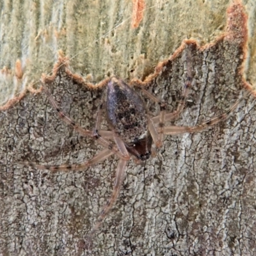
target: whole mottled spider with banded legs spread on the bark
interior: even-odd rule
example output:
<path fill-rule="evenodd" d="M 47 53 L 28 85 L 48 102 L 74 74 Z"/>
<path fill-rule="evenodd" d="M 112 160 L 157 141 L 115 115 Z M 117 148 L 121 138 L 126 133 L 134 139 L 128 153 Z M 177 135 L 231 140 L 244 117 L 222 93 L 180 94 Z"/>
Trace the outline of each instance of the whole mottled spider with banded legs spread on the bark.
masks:
<path fill-rule="evenodd" d="M 74 122 L 66 113 L 63 113 L 58 104 L 52 97 L 51 93 L 45 86 L 45 81 L 42 81 L 47 97 L 49 98 L 53 108 L 56 110 L 60 118 L 71 125 L 79 134 L 88 136 L 102 145 L 103 149 L 91 159 L 81 164 L 63 164 L 59 166 L 47 166 L 29 162 L 22 162 L 33 168 L 46 169 L 51 171 L 74 171 L 84 170 L 93 164 L 104 161 L 110 156 L 118 157 L 118 164 L 116 167 L 115 183 L 113 185 L 113 192 L 108 203 L 100 212 L 99 219 L 88 236 L 88 244 L 92 242 L 92 237 L 95 235 L 100 225 L 106 218 L 111 207 L 116 202 L 122 181 L 124 180 L 125 166 L 131 157 L 138 163 L 146 161 L 150 156 L 156 154 L 157 149 L 163 144 L 165 135 L 182 134 L 185 132 L 200 132 L 203 129 L 211 127 L 225 120 L 232 111 L 237 107 L 244 97 L 238 99 L 233 106 L 231 106 L 223 114 L 214 116 L 213 118 L 191 127 L 179 127 L 166 125 L 177 118 L 182 113 L 186 99 L 188 97 L 189 88 L 193 81 L 192 77 L 192 56 L 191 51 L 196 49 L 195 42 L 186 41 L 186 82 L 183 86 L 182 97 L 179 100 L 177 109 L 172 113 L 166 111 L 166 103 L 163 100 L 157 99 L 152 93 L 148 92 L 139 81 L 134 80 L 132 83 L 139 88 L 141 92 L 148 97 L 148 99 L 159 105 L 159 115 L 151 116 L 145 106 L 145 102 L 140 97 L 139 93 L 132 88 L 132 86 L 125 83 L 122 79 L 113 76 L 106 80 L 104 90 L 99 108 L 97 110 L 97 118 L 95 120 L 95 127 L 92 130 L 84 129 Z M 106 108 L 104 108 L 106 106 Z M 101 130 L 102 112 L 105 109 L 106 120 L 110 129 L 108 131 Z"/>

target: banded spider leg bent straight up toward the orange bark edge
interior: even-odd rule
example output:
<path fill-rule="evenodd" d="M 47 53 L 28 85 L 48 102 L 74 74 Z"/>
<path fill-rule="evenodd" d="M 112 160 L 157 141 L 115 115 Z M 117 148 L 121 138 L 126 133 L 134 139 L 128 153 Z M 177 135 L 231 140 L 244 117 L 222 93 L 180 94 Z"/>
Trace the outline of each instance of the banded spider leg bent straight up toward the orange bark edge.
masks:
<path fill-rule="evenodd" d="M 186 98 L 188 97 L 188 93 L 189 93 L 189 88 L 191 87 L 191 83 L 192 83 L 191 59 L 192 59 L 191 45 L 188 45 L 187 60 L 186 60 L 186 62 L 187 62 L 187 79 L 184 84 L 183 94 L 182 94 L 182 97 L 180 98 L 179 105 L 178 105 L 177 109 L 175 111 L 173 111 L 172 113 L 166 113 L 166 115 L 164 116 L 165 122 L 177 118 L 177 116 L 179 116 L 180 113 L 182 113 L 182 111 L 184 109 L 184 106 L 186 103 Z M 153 117 L 152 121 L 154 122 L 155 125 L 161 124 L 161 113 L 160 113 L 160 115 Z M 161 131 L 163 131 L 163 130 L 161 130 Z"/>

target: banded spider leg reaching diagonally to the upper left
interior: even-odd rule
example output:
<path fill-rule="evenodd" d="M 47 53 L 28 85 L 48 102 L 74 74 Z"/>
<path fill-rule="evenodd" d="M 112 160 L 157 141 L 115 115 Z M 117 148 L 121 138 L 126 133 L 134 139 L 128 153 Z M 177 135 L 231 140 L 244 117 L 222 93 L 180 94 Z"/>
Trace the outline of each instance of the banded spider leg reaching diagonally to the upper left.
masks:
<path fill-rule="evenodd" d="M 55 100 L 53 99 L 51 93 L 49 92 L 49 90 L 44 86 L 44 83 L 42 83 L 42 86 L 45 90 L 45 93 L 47 94 L 47 96 L 49 97 L 49 100 L 51 101 L 51 104 L 53 106 L 53 108 L 57 111 L 58 115 L 60 116 L 60 118 L 67 123 L 68 125 L 71 125 L 77 132 L 79 132 L 81 135 L 83 136 L 89 136 L 91 138 L 93 138 L 94 140 L 97 140 L 100 145 L 102 145 L 104 148 L 108 148 L 109 150 L 111 150 L 113 153 L 115 153 L 118 157 L 120 158 L 124 158 L 124 159 L 128 159 L 129 156 L 124 156 L 122 154 L 122 152 L 120 153 L 120 151 L 115 147 L 115 145 L 111 142 L 109 142 L 108 140 L 105 140 L 100 134 L 99 132 L 96 131 L 90 131 L 87 129 L 82 128 L 80 125 L 76 124 L 68 115 L 66 115 L 65 113 L 63 113 L 60 108 L 58 107 L 58 105 L 56 104 Z M 99 122 L 100 122 L 100 116 L 99 118 L 97 118 L 97 124 L 99 126 Z M 97 126 L 96 126 L 97 129 Z"/>

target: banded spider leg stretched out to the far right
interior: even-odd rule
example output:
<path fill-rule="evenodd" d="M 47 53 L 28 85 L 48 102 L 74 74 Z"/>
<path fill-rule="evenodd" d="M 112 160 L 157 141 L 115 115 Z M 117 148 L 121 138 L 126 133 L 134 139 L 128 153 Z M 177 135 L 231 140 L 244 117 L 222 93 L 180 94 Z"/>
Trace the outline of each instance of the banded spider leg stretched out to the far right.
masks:
<path fill-rule="evenodd" d="M 230 113 L 232 113 L 232 111 L 234 111 L 234 109 L 237 108 L 238 104 L 248 95 L 250 95 L 251 92 L 248 91 L 245 93 L 245 95 L 243 97 L 241 97 L 241 99 L 238 99 L 235 104 L 229 108 L 225 113 L 222 113 L 221 115 L 218 116 L 214 116 L 213 118 L 207 120 L 206 122 L 203 122 L 202 124 L 198 124 L 196 126 L 188 126 L 188 127 L 179 127 L 179 126 L 168 126 L 168 127 L 164 127 L 164 134 L 166 135 L 172 135 L 172 134 L 181 134 L 184 132 L 200 132 L 205 128 L 208 128 L 214 124 L 218 124 L 219 122 L 225 120 L 228 118 L 228 116 L 230 115 Z"/>

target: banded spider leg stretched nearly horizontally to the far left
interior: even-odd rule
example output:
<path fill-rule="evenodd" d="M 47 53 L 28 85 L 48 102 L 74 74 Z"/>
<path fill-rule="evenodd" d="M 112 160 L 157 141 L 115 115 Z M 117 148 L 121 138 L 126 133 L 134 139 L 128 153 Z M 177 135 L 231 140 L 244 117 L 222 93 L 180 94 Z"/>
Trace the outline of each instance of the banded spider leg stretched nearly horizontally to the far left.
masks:
<path fill-rule="evenodd" d="M 93 156 L 91 159 L 89 159 L 88 161 L 82 164 L 61 164 L 61 165 L 55 165 L 55 166 L 41 165 L 41 164 L 30 163 L 30 162 L 19 162 L 19 164 L 24 164 L 26 166 L 31 166 L 33 168 L 38 168 L 41 170 L 50 170 L 52 172 L 79 171 L 79 170 L 84 170 L 85 168 L 88 168 L 89 166 L 92 166 L 94 164 L 100 163 L 113 154 L 114 153 L 111 150 L 109 150 L 108 148 L 105 148 L 104 150 L 100 151 L 99 154 Z"/>

